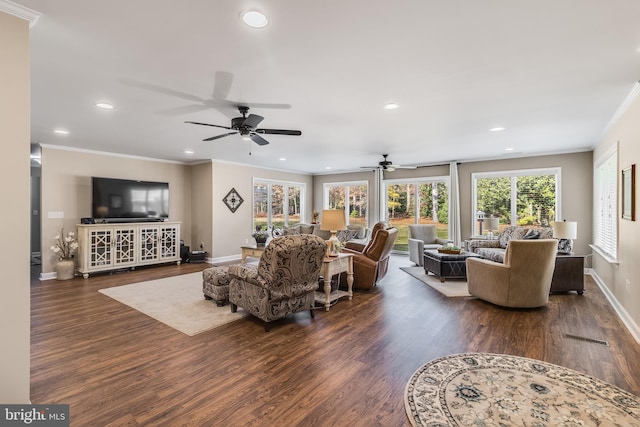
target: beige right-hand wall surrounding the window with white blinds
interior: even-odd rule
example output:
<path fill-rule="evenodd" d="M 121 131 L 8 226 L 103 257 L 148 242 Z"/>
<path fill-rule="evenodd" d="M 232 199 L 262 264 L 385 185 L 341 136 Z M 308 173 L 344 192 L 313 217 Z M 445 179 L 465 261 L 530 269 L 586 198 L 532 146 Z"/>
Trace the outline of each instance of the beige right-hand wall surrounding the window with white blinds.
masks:
<path fill-rule="evenodd" d="M 618 145 L 618 200 L 621 200 L 621 171 L 640 163 L 640 91 L 626 112 L 608 130 L 594 152 L 594 162 L 611 147 Z M 636 171 L 640 174 L 640 170 Z M 636 176 L 636 220 L 621 219 L 618 215 L 618 263 L 612 264 L 594 252 L 593 270 L 610 300 L 636 340 L 640 341 L 640 198 Z M 618 202 L 619 213 L 621 203 Z"/>

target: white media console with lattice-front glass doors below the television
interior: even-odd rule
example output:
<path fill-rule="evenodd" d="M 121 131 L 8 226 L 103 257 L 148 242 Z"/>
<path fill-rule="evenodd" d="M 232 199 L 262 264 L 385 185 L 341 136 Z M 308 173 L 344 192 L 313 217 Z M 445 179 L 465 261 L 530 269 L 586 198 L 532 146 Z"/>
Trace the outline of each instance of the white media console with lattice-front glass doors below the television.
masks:
<path fill-rule="evenodd" d="M 180 265 L 179 222 L 78 224 L 78 271 L 90 273 L 176 262 Z"/>

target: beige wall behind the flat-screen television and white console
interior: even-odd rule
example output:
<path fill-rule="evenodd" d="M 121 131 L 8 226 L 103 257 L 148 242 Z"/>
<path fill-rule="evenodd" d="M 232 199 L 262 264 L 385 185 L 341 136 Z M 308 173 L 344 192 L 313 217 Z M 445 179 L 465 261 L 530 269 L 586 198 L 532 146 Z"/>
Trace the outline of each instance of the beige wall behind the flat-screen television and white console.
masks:
<path fill-rule="evenodd" d="M 55 270 L 56 257 L 49 248 L 64 227 L 75 231 L 80 218 L 91 216 L 91 177 L 162 181 L 169 183 L 169 220 L 182 222 L 181 239 L 191 241 L 191 169 L 189 166 L 42 147 L 42 272 Z M 63 219 L 48 218 L 64 212 Z"/>

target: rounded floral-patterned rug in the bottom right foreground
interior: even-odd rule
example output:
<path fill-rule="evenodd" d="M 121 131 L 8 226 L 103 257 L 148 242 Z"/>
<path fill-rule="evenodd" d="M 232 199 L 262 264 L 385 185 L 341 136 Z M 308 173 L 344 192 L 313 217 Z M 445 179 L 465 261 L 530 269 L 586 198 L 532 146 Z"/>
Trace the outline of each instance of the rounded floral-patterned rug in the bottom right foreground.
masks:
<path fill-rule="evenodd" d="M 596 378 L 503 354 L 445 356 L 405 389 L 414 426 L 640 426 L 640 398 Z"/>

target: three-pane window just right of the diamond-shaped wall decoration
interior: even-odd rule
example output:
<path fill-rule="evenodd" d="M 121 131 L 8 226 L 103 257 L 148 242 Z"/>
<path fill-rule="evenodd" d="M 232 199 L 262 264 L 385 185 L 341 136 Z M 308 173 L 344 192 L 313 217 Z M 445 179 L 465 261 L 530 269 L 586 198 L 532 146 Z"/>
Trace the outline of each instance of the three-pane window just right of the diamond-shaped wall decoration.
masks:
<path fill-rule="evenodd" d="M 273 229 L 300 223 L 305 184 L 253 180 L 253 228 Z"/>

